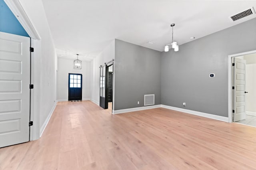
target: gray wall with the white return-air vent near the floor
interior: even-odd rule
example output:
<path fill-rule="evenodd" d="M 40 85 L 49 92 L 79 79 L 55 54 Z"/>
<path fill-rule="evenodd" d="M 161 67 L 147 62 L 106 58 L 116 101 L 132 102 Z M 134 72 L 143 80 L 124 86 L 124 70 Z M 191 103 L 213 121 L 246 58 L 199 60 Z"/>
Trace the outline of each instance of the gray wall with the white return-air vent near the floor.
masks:
<path fill-rule="evenodd" d="M 115 40 L 114 110 L 144 106 L 144 95 L 161 104 L 161 52 Z M 140 104 L 137 104 L 140 101 Z"/>

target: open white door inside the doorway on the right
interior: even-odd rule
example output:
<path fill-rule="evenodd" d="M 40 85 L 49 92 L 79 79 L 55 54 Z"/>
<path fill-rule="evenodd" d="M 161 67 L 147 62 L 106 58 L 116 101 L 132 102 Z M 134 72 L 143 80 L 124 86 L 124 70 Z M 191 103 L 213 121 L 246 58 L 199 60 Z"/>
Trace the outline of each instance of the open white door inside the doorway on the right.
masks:
<path fill-rule="evenodd" d="M 233 121 L 236 122 L 246 118 L 246 61 L 233 59 Z"/>

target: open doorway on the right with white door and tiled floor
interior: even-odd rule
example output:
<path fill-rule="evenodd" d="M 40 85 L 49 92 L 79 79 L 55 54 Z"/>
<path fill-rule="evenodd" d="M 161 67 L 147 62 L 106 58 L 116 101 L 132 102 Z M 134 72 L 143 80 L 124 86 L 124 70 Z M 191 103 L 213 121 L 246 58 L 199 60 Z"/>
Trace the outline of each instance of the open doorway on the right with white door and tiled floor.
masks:
<path fill-rule="evenodd" d="M 256 127 L 256 53 L 232 61 L 232 121 Z"/>

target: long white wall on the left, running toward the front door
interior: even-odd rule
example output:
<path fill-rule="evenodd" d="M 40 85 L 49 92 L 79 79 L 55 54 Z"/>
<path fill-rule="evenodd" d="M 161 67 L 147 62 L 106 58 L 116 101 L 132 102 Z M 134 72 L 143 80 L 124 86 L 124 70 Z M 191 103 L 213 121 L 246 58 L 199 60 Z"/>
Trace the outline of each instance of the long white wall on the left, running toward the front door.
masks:
<path fill-rule="evenodd" d="M 34 121 L 36 136 L 39 138 L 56 104 L 56 53 L 52 40 L 52 35 L 48 26 L 48 21 L 44 12 L 41 0 L 19 0 L 24 8 L 28 18 L 38 31 L 40 40 L 36 41 L 34 53 L 36 53 L 36 81 L 34 82 L 34 91 L 36 91 L 37 119 Z M 39 132 L 38 132 L 39 131 Z"/>

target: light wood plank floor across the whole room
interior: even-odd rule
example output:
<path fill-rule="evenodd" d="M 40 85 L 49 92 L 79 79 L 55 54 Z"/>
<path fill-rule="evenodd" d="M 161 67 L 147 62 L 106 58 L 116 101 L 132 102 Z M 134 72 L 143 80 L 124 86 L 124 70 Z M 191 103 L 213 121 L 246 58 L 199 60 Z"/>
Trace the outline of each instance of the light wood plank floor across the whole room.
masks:
<path fill-rule="evenodd" d="M 111 115 L 58 103 L 42 138 L 0 148 L 1 170 L 246 170 L 256 128 L 158 108 Z"/>

